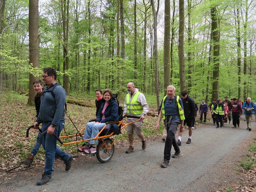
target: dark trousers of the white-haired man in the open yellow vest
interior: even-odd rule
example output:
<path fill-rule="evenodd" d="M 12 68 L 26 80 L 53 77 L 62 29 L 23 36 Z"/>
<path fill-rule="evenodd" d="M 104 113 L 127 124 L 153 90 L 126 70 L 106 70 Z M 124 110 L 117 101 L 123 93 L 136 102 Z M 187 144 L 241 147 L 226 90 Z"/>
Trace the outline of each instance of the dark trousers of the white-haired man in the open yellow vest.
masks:
<path fill-rule="evenodd" d="M 169 130 L 167 128 L 167 137 L 166 137 L 165 145 L 164 145 L 164 160 L 169 161 L 171 159 L 172 145 L 173 145 L 175 152 L 180 151 L 178 143 L 175 139 L 175 133 L 177 132 L 178 124 L 180 124 L 180 122 L 171 122 Z"/>

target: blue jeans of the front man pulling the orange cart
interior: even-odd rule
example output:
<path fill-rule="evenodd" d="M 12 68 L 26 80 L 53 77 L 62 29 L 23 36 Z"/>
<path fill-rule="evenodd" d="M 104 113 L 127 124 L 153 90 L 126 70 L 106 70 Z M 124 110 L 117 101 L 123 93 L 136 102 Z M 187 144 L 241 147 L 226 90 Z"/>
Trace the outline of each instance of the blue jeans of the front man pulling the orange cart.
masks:
<path fill-rule="evenodd" d="M 54 134 L 59 137 L 60 130 L 63 129 L 65 121 L 60 121 L 59 124 L 55 127 Z M 48 129 L 51 125 L 49 123 L 42 124 L 42 131 Z M 66 152 L 62 151 L 59 147 L 57 147 L 57 140 L 53 135 L 46 134 L 43 137 L 43 148 L 45 150 L 45 166 L 44 166 L 44 174 L 47 176 L 51 176 L 53 172 L 53 164 L 54 164 L 54 157 L 60 157 L 60 159 L 64 162 L 67 162 L 69 156 Z"/>

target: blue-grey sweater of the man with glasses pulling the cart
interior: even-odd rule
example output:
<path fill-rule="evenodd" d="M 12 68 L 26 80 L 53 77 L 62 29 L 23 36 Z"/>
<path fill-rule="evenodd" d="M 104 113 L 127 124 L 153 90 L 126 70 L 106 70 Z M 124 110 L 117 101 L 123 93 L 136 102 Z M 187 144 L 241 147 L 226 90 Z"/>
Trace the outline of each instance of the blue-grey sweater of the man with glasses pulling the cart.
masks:
<path fill-rule="evenodd" d="M 59 85 L 58 83 L 54 85 Z M 55 87 L 53 92 L 46 92 L 52 90 L 53 84 L 48 90 L 48 86 L 42 92 L 40 112 L 36 122 L 49 123 L 52 126 L 57 126 L 60 121 L 65 120 L 64 105 L 66 101 L 66 92 L 60 85 Z M 54 97 L 52 96 L 55 96 Z"/>

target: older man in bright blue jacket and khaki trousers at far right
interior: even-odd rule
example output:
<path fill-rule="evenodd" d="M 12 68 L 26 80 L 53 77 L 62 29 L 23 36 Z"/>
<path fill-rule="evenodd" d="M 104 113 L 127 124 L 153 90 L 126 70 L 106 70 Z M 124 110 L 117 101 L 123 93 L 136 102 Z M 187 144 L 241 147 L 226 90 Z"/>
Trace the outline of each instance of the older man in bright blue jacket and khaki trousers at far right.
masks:
<path fill-rule="evenodd" d="M 244 102 L 242 109 L 244 109 L 245 120 L 247 123 L 246 130 L 251 131 L 252 130 L 252 116 L 254 114 L 254 110 L 256 109 L 256 106 L 251 101 L 250 97 L 247 97 L 247 100 L 246 100 L 246 102 Z"/>

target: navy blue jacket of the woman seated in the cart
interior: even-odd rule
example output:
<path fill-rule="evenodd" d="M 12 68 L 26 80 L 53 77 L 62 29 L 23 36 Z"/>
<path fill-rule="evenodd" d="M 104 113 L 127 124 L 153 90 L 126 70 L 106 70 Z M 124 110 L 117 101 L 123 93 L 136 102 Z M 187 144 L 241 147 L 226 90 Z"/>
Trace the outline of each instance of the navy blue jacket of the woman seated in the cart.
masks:
<path fill-rule="evenodd" d="M 118 115 L 118 107 L 117 107 L 116 99 L 111 98 L 109 100 L 108 106 L 105 109 L 105 113 L 104 113 L 105 119 L 102 119 L 102 113 L 101 112 L 103 110 L 104 105 L 105 105 L 105 100 L 100 106 L 100 110 L 99 110 L 98 116 L 96 118 L 96 122 L 106 123 L 106 122 L 109 122 L 109 121 L 118 121 L 119 115 Z M 117 124 L 111 124 L 109 129 L 111 131 L 114 131 L 115 133 L 117 131 L 119 131 Z"/>

